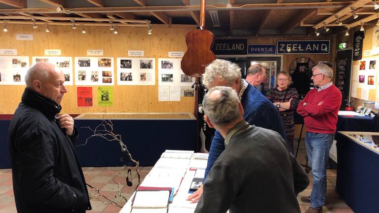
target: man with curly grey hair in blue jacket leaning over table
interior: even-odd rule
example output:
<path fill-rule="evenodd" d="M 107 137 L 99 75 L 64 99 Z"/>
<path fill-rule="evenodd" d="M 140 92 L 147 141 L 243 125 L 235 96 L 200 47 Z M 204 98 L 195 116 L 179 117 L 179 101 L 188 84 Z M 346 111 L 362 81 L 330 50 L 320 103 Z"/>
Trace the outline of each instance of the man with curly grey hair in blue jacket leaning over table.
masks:
<path fill-rule="evenodd" d="M 205 68 L 202 82 L 208 89 L 215 86 L 233 88 L 237 92 L 238 99 L 243 106 L 243 117 L 250 125 L 276 131 L 283 139 L 286 139 L 286 132 L 278 110 L 260 91 L 244 79 L 241 79 L 241 68 L 238 65 L 226 60 L 216 59 Z M 209 150 L 204 180 L 224 149 L 224 138 L 216 131 Z M 200 186 L 187 200 L 190 200 L 191 203 L 197 202 L 201 197 L 202 191 L 203 188 Z"/>

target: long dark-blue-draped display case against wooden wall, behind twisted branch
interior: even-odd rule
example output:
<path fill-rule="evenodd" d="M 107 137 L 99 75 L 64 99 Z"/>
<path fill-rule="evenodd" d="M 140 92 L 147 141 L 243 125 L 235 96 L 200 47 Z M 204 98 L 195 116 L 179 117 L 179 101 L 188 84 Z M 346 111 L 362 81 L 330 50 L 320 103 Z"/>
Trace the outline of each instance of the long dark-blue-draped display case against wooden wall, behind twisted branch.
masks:
<path fill-rule="evenodd" d="M 90 138 L 93 131 L 86 127 L 94 130 L 103 117 L 112 121 L 114 134 L 121 136 L 140 166 L 153 166 L 166 149 L 197 150 L 196 118 L 191 113 L 84 113 L 74 119 L 79 129 L 75 149 L 82 167 L 124 165 L 118 142 Z"/>

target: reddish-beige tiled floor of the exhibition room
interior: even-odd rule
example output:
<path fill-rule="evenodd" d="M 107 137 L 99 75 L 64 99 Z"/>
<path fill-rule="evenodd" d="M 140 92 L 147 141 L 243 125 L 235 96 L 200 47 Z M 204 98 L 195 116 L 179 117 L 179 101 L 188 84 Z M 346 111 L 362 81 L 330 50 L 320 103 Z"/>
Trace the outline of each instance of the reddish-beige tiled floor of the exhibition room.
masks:
<path fill-rule="evenodd" d="M 305 164 L 305 149 L 302 147 L 304 143 L 301 143 L 298 160 Z M 83 173 L 88 184 L 100 189 L 102 195 L 107 196 L 115 203 L 123 206 L 125 200 L 121 197 L 115 198 L 115 194 L 120 191 L 120 195 L 129 199 L 134 187 L 138 182 L 137 174 L 132 172 L 132 187 L 126 185 L 125 178 L 127 177 L 127 171 L 123 170 L 118 174 L 116 178 L 114 175 L 121 170 L 121 167 L 86 167 L 83 168 Z M 151 167 L 140 168 L 141 181 L 149 173 Z M 336 192 L 336 170 L 327 171 L 327 198 L 326 205 L 323 207 L 324 213 L 353 213 L 353 211 L 346 205 L 346 203 L 340 199 L 340 196 Z M 309 174 L 309 178 L 312 181 L 312 176 Z M 121 189 L 121 190 L 119 190 Z M 309 184 L 308 188 L 299 194 L 298 200 L 302 213 L 308 209 L 309 204 L 303 204 L 300 200 L 301 196 L 308 196 L 312 189 L 312 184 Z M 109 201 L 99 196 L 94 189 L 88 188 L 91 194 L 92 211 L 88 213 L 118 213 L 121 208 L 112 205 Z M 0 213 L 16 213 L 13 190 L 12 190 L 12 173 L 10 169 L 0 170 Z"/>

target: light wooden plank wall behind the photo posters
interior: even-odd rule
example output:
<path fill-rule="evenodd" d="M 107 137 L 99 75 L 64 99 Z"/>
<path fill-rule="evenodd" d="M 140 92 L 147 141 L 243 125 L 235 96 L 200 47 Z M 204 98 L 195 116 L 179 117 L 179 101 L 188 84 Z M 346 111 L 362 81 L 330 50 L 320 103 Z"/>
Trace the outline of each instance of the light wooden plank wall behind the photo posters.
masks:
<path fill-rule="evenodd" d="M 146 28 L 118 28 L 114 35 L 108 27 L 85 27 L 86 34 L 65 26 L 8 25 L 8 32 L 0 33 L 0 48 L 17 49 L 19 56 L 43 56 L 44 49 L 61 49 L 61 56 L 86 56 L 87 49 L 102 49 L 105 57 L 128 57 L 128 50 L 144 50 L 144 58 L 155 58 L 156 76 L 158 58 L 168 58 L 168 51 L 186 51 L 186 35 L 192 29 L 154 28 L 149 36 Z M 33 34 L 33 41 L 15 39 L 16 34 Z M 116 66 L 114 66 L 116 74 Z M 0 85 L 0 114 L 13 114 L 18 106 L 24 86 Z M 67 86 L 69 92 L 62 101 L 62 113 L 83 112 L 193 112 L 194 98 L 181 97 L 180 102 L 158 102 L 158 81 L 155 86 L 114 85 L 114 106 L 99 107 L 97 86 L 93 86 L 94 106 L 77 107 L 76 86 Z"/>

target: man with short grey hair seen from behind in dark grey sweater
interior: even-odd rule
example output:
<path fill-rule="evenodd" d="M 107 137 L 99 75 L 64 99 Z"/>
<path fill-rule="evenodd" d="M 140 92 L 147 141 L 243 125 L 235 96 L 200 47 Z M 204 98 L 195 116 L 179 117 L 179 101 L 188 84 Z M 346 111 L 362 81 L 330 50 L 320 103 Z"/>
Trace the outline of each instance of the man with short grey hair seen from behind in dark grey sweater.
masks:
<path fill-rule="evenodd" d="M 309 179 L 283 138 L 249 125 L 230 87 L 213 87 L 203 108 L 226 148 L 204 182 L 195 213 L 300 213 L 297 194 Z"/>

